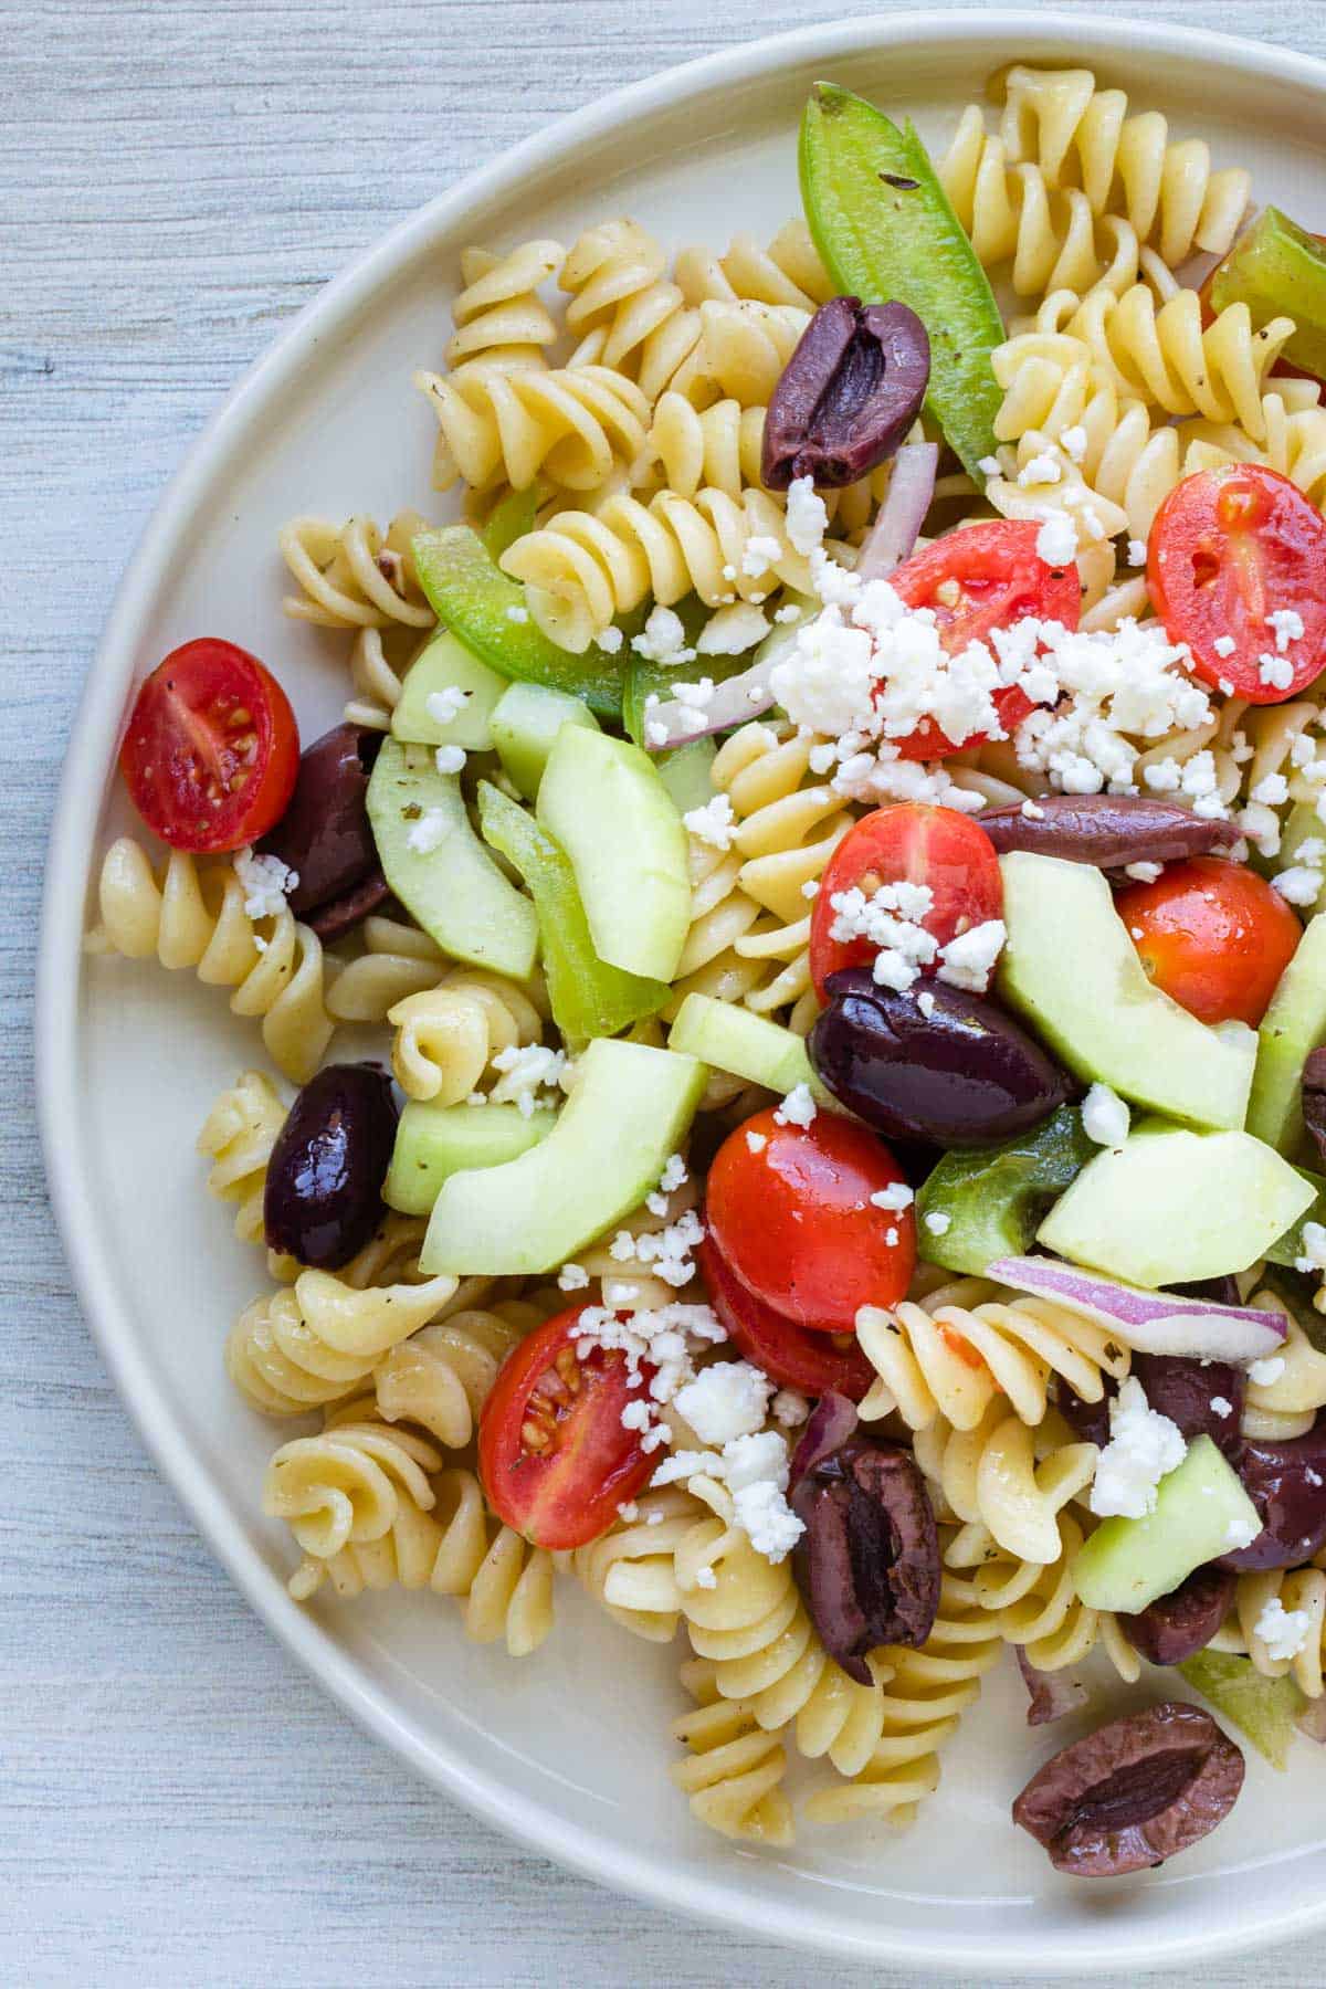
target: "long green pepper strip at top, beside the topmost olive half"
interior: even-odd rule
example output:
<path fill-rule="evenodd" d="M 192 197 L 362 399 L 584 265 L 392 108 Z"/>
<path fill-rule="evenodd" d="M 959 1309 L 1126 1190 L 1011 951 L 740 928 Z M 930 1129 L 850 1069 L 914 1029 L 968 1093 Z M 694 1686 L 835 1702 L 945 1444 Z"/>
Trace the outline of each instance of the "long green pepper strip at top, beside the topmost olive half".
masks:
<path fill-rule="evenodd" d="M 839 292 L 909 304 L 930 334 L 926 410 L 984 489 L 980 461 L 994 455 L 1004 398 L 990 354 L 1004 320 L 912 123 L 899 129 L 865 97 L 815 84 L 799 165 L 805 219 Z"/>

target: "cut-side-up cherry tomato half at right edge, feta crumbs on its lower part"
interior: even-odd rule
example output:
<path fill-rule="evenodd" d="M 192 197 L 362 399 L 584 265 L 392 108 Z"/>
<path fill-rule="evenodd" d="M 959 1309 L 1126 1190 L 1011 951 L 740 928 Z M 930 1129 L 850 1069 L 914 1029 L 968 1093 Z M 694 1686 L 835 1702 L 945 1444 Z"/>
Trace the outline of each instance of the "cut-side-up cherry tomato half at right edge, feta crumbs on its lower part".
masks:
<path fill-rule="evenodd" d="M 1151 525 L 1147 587 L 1197 676 L 1248 704 L 1296 698 L 1326 668 L 1326 519 L 1278 469 L 1231 463 L 1177 483 Z M 1266 621 L 1276 609 L 1302 617 L 1284 650 Z M 1268 682 L 1266 658 L 1288 674 Z"/>

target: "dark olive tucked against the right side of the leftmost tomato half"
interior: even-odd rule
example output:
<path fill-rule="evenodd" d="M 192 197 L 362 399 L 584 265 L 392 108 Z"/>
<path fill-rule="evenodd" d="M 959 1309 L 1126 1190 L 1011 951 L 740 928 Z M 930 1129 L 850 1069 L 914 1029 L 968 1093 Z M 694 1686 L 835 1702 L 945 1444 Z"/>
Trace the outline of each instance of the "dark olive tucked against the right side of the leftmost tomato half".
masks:
<path fill-rule="evenodd" d="M 290 806 L 258 845 L 298 873 L 290 891 L 290 911 L 298 917 L 332 907 L 378 869 L 366 796 L 380 746 L 380 732 L 334 726 L 300 754 Z M 374 903 L 366 901 L 360 917 Z M 346 923 L 338 923 L 336 931 L 348 931 Z"/>

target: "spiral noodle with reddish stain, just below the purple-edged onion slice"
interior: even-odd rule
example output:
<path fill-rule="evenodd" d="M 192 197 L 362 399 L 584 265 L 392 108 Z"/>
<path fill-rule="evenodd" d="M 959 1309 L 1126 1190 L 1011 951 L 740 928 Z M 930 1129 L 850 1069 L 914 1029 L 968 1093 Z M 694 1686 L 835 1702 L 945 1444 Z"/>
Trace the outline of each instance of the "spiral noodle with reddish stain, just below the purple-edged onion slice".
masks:
<path fill-rule="evenodd" d="M 1103 1374 L 1121 1380 L 1129 1370 L 1127 1349 L 1103 1327 L 976 1277 L 893 1311 L 865 1305 L 857 1339 L 879 1374 L 861 1416 L 873 1422 L 897 1410 L 912 1430 L 936 1416 L 974 1430 L 1000 1390 L 1022 1422 L 1040 1422 L 1050 1374 L 1083 1402 L 1099 1402 Z"/>

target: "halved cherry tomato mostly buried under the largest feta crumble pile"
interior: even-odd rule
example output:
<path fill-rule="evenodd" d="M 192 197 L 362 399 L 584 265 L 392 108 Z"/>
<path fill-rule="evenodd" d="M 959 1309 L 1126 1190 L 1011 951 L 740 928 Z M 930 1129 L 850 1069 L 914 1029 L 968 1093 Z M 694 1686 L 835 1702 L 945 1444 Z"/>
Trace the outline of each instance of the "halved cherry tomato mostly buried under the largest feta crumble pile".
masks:
<path fill-rule="evenodd" d="M 950 656 L 1028 615 L 1076 629 L 1081 615 L 1077 569 L 1072 563 L 1048 565 L 1036 551 L 1038 535 L 1034 519 L 998 517 L 986 525 L 960 525 L 914 553 L 889 575 L 889 585 L 911 609 L 934 609 L 940 642 Z M 1032 710 L 1032 700 L 1010 684 L 996 692 L 994 708 L 1004 732 L 1012 732 Z M 972 732 L 970 738 L 950 740 L 932 718 L 922 718 L 914 732 L 893 744 L 905 760 L 942 760 L 950 752 L 984 746 L 986 738 L 986 732 Z"/>

